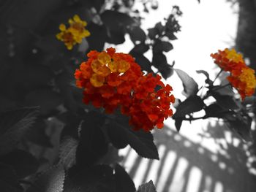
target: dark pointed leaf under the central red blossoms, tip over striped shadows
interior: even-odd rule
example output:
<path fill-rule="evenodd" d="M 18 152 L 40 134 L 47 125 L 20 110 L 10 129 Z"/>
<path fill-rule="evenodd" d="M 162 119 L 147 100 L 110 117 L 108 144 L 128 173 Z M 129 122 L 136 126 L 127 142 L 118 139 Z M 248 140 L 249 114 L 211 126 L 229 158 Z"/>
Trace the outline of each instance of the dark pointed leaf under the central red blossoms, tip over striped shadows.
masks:
<path fill-rule="evenodd" d="M 119 140 L 123 140 L 124 144 L 128 143 L 138 153 L 138 155 L 144 158 L 159 159 L 157 147 L 154 145 L 154 138 L 152 134 L 142 130 L 133 131 L 132 128 L 129 127 L 128 118 L 124 118 L 126 118 L 126 120 L 121 123 L 116 120 L 111 120 L 109 125 L 110 128 L 108 128 L 108 134 L 118 136 Z M 111 133 L 112 131 L 114 131 L 114 133 Z"/>

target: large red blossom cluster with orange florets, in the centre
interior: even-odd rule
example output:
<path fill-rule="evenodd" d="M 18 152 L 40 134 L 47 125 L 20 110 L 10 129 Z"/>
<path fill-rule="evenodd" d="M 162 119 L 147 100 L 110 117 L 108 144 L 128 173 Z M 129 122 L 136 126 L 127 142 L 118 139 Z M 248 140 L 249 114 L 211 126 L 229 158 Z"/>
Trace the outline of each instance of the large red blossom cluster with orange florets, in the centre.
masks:
<path fill-rule="evenodd" d="M 88 61 L 76 69 L 76 85 L 84 88 L 83 102 L 91 101 L 107 113 L 121 107 L 121 113 L 130 117 L 129 124 L 135 130 L 162 128 L 164 119 L 173 115 L 172 88 L 164 85 L 159 75 L 143 75 L 131 55 L 115 52 L 112 47 L 101 53 L 93 50 L 88 53 Z"/>

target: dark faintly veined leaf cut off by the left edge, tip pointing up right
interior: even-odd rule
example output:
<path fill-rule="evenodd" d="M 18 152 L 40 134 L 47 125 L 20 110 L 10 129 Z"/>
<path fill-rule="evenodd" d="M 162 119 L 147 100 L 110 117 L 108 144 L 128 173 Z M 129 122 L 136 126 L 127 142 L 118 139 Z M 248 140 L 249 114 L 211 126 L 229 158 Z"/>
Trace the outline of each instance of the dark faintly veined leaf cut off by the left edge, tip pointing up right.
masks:
<path fill-rule="evenodd" d="M 25 107 L 0 114 L 0 155 L 14 150 L 38 114 L 38 107 Z"/>

